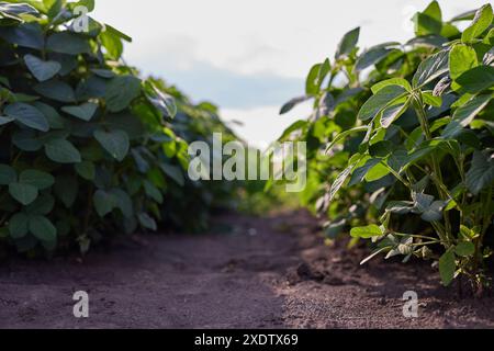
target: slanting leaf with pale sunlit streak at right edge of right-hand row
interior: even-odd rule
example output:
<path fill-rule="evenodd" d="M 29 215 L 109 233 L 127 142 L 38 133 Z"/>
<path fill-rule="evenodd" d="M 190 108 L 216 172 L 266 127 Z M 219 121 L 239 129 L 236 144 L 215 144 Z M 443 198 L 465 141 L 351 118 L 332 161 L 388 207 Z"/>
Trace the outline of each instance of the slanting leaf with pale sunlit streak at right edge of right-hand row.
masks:
<path fill-rule="evenodd" d="M 442 131 L 444 138 L 452 139 L 457 137 L 464 127 L 469 126 L 475 116 L 485 109 L 493 99 L 493 94 L 476 95 L 468 101 L 454 112 L 451 122 Z"/>

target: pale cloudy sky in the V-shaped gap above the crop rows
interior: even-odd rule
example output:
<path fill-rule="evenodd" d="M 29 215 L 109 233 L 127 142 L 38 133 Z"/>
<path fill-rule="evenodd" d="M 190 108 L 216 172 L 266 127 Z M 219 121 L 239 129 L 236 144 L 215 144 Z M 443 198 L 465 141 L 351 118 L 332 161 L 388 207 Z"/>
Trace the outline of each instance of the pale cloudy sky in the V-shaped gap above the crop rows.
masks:
<path fill-rule="evenodd" d="M 439 0 L 445 19 L 489 0 Z M 194 102 L 212 101 L 252 146 L 262 147 L 307 116 L 280 116 L 303 94 L 312 65 L 334 57 L 341 36 L 361 26 L 359 46 L 406 42 L 409 19 L 429 0 L 100 0 L 94 18 L 133 37 L 126 61 L 164 78 Z"/>

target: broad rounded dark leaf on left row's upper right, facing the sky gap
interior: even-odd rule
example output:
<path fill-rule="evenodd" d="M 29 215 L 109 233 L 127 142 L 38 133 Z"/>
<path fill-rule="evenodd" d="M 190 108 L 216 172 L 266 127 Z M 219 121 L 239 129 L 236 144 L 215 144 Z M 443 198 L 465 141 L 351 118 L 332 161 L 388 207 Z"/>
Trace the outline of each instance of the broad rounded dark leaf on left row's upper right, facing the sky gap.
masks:
<path fill-rule="evenodd" d="M 115 77 L 108 83 L 105 100 L 111 112 L 125 110 L 141 94 L 141 79 L 134 76 Z"/>

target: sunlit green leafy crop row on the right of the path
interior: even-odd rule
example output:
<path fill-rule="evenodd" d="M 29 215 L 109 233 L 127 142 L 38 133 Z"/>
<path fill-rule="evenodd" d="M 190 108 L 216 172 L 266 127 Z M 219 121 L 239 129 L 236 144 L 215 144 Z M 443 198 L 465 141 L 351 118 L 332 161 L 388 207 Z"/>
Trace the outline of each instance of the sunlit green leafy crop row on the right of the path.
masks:
<path fill-rule="evenodd" d="M 470 21 L 463 32 L 460 21 Z M 352 228 L 352 242 L 372 239 L 371 258 L 435 258 L 445 285 L 460 274 L 489 284 L 492 7 L 445 22 L 434 1 L 414 22 L 417 36 L 405 45 L 361 54 L 359 32 L 349 32 L 332 65 L 326 59 L 311 69 L 308 123 L 297 122 L 283 137 L 310 146 L 303 200 L 329 217 L 330 238 Z"/>

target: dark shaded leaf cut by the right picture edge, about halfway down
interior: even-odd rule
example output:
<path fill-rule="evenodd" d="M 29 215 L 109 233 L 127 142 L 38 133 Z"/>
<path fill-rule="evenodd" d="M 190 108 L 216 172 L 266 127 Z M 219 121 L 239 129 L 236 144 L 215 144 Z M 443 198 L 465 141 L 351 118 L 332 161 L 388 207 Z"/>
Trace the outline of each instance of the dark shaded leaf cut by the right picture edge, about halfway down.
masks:
<path fill-rule="evenodd" d="M 494 181 L 494 159 L 482 151 L 473 154 L 472 166 L 467 173 L 467 188 L 478 195 L 484 188 Z"/>

